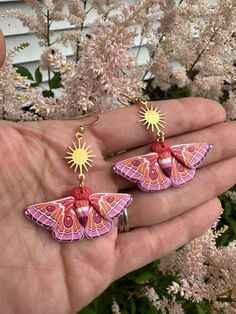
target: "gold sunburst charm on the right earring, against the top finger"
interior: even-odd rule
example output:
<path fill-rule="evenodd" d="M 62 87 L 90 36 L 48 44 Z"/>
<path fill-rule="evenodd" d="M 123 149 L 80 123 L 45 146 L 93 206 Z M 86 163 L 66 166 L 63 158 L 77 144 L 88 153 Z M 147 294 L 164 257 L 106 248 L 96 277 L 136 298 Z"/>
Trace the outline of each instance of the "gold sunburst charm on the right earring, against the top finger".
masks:
<path fill-rule="evenodd" d="M 151 127 L 152 132 L 156 129 L 159 134 L 161 132 L 160 128 L 165 127 L 165 120 L 163 118 L 164 114 L 161 113 L 157 107 L 144 104 L 144 107 L 141 107 L 139 113 L 141 117 L 139 122 L 143 122 L 143 125 L 146 126 L 147 130 Z"/>

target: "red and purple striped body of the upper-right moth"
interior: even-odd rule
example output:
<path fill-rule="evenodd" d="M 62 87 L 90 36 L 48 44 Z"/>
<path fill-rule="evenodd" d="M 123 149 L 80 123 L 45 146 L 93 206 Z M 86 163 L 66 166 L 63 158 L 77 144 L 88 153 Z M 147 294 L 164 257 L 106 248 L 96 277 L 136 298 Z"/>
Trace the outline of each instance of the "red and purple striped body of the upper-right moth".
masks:
<path fill-rule="evenodd" d="M 171 175 L 171 145 L 170 142 L 155 142 L 151 145 L 151 152 L 158 154 L 158 162 L 167 177 Z"/>

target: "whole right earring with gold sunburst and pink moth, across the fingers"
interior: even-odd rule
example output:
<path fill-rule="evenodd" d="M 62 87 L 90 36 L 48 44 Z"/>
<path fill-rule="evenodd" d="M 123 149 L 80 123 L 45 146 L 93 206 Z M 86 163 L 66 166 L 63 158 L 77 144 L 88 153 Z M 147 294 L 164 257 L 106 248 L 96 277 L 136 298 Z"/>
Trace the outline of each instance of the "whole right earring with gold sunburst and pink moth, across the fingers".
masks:
<path fill-rule="evenodd" d="M 139 122 L 147 129 L 157 130 L 157 141 L 151 145 L 150 153 L 117 162 L 114 171 L 147 192 L 180 186 L 192 180 L 212 146 L 205 143 L 171 146 L 160 130 L 160 127 L 164 128 L 164 115 L 157 108 L 149 107 L 142 98 L 134 102 L 144 105 Z"/>

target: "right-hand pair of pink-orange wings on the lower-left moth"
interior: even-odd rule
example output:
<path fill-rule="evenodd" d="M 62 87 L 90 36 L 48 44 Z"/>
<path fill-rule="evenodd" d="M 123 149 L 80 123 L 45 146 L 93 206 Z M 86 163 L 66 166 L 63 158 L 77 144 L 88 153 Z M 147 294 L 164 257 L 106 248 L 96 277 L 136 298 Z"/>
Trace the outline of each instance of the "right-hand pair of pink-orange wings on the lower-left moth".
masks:
<path fill-rule="evenodd" d="M 85 233 L 88 238 L 99 237 L 112 229 L 112 220 L 132 202 L 129 194 L 95 193 L 89 197 L 91 207 Z"/>

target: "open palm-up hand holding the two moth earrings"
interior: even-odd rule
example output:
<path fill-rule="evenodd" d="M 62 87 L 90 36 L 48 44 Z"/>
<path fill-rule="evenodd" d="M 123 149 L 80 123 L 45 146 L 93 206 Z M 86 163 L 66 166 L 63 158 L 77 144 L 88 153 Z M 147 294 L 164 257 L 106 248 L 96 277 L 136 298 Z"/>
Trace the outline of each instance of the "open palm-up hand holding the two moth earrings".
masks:
<path fill-rule="evenodd" d="M 75 313 L 114 280 L 156 260 L 207 230 L 220 215 L 217 195 L 236 182 L 235 123 L 211 100 L 160 101 L 172 143 L 213 145 L 196 177 L 180 188 L 145 193 L 112 172 L 117 160 L 148 152 L 154 138 L 138 120 L 138 107 L 111 111 L 87 128 L 96 154 L 86 186 L 96 192 L 128 189 L 130 232 L 117 227 L 94 240 L 58 243 L 31 223 L 23 209 L 66 196 L 77 185 L 62 158 L 84 120 L 0 123 L 0 304 L 10 313 Z M 89 120 L 89 118 L 88 118 Z M 175 137 L 174 137 L 175 136 Z M 104 161 L 103 154 L 129 149 Z"/>

